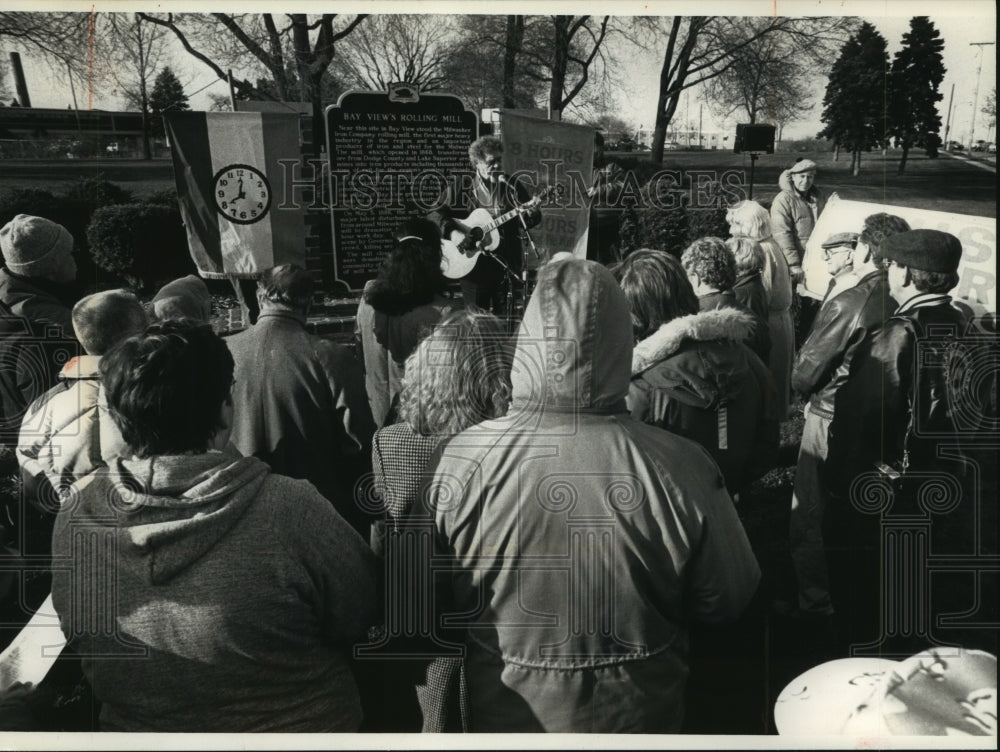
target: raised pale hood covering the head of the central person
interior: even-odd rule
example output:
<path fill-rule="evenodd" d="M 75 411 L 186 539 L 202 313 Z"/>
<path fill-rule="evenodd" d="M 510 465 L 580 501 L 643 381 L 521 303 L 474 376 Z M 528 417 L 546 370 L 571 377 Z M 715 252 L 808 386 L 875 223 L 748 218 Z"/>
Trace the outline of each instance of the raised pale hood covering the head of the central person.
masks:
<path fill-rule="evenodd" d="M 518 330 L 513 406 L 624 411 L 631 362 L 629 305 L 611 272 L 580 259 L 543 266 Z"/>

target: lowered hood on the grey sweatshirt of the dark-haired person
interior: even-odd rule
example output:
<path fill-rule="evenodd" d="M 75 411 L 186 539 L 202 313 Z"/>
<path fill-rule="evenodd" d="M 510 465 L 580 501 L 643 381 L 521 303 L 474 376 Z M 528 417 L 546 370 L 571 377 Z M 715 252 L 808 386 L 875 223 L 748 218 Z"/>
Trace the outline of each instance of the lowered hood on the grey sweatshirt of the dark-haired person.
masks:
<path fill-rule="evenodd" d="M 116 518 L 120 565 L 155 585 L 187 569 L 232 529 L 270 469 L 228 447 L 205 454 L 118 458 L 107 473 L 108 492 L 83 498 L 99 505 L 92 510 L 96 519 L 103 517 L 106 524 L 109 511 Z"/>

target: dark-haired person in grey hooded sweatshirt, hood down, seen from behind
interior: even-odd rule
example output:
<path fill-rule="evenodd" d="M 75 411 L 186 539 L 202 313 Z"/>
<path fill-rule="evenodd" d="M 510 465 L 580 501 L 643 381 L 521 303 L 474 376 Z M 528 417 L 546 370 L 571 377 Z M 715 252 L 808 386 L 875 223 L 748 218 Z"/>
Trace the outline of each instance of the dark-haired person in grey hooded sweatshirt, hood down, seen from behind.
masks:
<path fill-rule="evenodd" d="M 233 359 L 167 321 L 101 360 L 131 452 L 70 488 L 52 601 L 105 731 L 354 731 L 377 561 L 312 484 L 229 444 Z"/>

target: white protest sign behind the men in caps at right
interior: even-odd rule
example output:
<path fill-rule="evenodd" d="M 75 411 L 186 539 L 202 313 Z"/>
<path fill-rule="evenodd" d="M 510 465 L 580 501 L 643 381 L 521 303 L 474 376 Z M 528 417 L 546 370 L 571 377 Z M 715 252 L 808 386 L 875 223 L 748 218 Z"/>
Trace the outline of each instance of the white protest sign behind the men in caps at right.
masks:
<path fill-rule="evenodd" d="M 830 275 L 820 244 L 834 233 L 861 232 L 865 217 L 880 212 L 902 217 L 914 230 L 942 230 L 957 237 L 962 243 L 962 263 L 958 267 L 958 287 L 952 290 L 952 297 L 966 300 L 974 308 L 996 312 L 997 221 L 994 217 L 844 201 L 836 197 L 827 202 L 806 244 L 802 259 L 806 274 L 803 292 L 815 298 L 822 298 L 826 292 Z"/>

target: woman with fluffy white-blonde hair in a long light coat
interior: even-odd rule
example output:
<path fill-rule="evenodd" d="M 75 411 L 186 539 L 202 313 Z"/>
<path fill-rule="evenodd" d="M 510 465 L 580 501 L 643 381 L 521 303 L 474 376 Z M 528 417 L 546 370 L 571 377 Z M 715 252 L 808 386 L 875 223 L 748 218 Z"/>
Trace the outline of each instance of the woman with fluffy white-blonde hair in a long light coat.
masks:
<path fill-rule="evenodd" d="M 771 236 L 771 215 L 756 201 L 740 201 L 726 213 L 733 238 L 749 238 L 764 251 L 761 282 L 767 296 L 767 328 L 771 334 L 768 366 L 778 389 L 778 414 L 784 417 L 791 403 L 792 363 L 795 360 L 795 325 L 792 321 L 792 276 L 788 259 Z"/>

